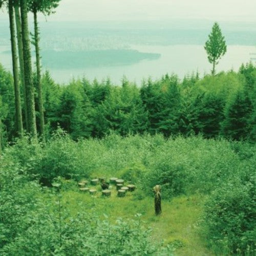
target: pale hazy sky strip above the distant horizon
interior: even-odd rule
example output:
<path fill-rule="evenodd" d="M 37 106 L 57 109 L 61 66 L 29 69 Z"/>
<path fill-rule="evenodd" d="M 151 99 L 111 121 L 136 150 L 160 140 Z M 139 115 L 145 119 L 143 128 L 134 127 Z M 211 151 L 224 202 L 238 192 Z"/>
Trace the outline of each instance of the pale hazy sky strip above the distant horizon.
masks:
<path fill-rule="evenodd" d="M 50 20 L 210 19 L 256 22 L 255 0 L 62 0 Z M 0 20 L 6 19 L 0 12 Z"/>

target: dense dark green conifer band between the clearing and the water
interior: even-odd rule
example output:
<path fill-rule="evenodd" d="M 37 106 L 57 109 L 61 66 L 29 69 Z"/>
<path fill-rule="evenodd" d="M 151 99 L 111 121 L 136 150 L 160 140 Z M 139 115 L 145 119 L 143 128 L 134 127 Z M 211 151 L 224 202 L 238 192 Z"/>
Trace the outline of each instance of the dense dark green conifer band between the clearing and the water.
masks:
<path fill-rule="evenodd" d="M 36 74 L 34 74 L 36 87 Z M 15 98 L 12 75 L 0 68 L 2 144 L 15 137 Z M 75 140 L 102 138 L 115 131 L 129 134 L 202 134 L 254 141 L 256 137 L 256 67 L 242 65 L 239 72 L 185 76 L 165 75 L 142 81 L 141 87 L 122 79 L 92 82 L 86 78 L 59 86 L 46 72 L 41 79 L 46 138 L 60 126 Z M 23 90 L 21 90 L 23 92 Z M 37 95 L 35 95 L 35 98 Z M 22 99 L 24 95 L 22 93 Z M 25 112 L 25 102 L 22 102 Z M 40 127 L 36 106 L 36 124 Z M 24 124 L 25 125 L 25 124 Z"/>

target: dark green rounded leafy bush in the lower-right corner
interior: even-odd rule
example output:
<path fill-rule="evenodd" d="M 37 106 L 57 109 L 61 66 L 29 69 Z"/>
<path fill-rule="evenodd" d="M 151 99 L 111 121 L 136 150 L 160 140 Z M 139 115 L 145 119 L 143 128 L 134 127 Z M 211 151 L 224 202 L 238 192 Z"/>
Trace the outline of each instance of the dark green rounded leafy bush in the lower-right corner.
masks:
<path fill-rule="evenodd" d="M 255 253 L 255 186 L 247 181 L 232 180 L 208 199 L 204 211 L 204 227 L 216 253 L 225 251 L 249 255 Z"/>

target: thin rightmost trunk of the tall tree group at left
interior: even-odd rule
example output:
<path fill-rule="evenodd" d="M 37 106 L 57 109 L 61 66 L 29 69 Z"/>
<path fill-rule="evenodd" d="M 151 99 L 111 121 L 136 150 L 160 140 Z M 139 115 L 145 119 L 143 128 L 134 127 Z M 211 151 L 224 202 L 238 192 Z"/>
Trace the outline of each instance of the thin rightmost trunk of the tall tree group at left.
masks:
<path fill-rule="evenodd" d="M 34 14 L 34 33 L 35 33 L 35 56 L 36 56 L 36 74 L 37 74 L 37 104 L 39 110 L 39 123 L 40 123 L 40 135 L 44 139 L 45 137 L 45 120 L 44 120 L 44 108 L 42 106 L 42 85 L 41 85 L 41 67 L 40 67 L 40 54 L 39 54 L 39 31 L 37 22 L 37 11 L 33 11 Z"/>

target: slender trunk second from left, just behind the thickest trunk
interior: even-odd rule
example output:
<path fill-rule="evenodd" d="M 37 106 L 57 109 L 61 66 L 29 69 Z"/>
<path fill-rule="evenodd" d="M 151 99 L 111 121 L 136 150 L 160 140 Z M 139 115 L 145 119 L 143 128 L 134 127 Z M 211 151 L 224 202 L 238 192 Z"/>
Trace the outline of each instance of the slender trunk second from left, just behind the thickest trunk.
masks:
<path fill-rule="evenodd" d="M 19 3 L 18 0 L 14 2 L 15 10 L 15 22 L 17 29 L 17 41 L 18 41 L 18 56 L 19 56 L 19 68 L 20 75 L 22 78 L 23 86 L 23 95 L 24 95 L 24 113 L 25 113 L 25 124 L 26 130 L 28 131 L 28 111 L 27 111 L 27 98 L 26 98 L 26 87 L 25 87 L 25 76 L 24 76 L 24 58 L 23 58 L 23 42 L 22 42 L 22 24 L 20 23 L 20 14 L 19 14 Z"/>

